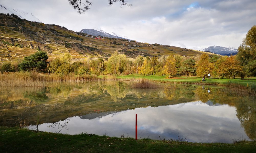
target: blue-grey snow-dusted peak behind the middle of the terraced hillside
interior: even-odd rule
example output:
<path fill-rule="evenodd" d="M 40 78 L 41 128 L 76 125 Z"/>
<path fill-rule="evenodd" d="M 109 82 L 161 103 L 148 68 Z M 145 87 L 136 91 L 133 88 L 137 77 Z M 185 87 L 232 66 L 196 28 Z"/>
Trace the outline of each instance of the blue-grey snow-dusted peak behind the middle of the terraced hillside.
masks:
<path fill-rule="evenodd" d="M 80 32 L 87 33 L 87 34 L 90 34 L 90 35 L 93 35 L 93 36 L 99 36 L 100 35 L 102 37 L 127 39 L 127 38 L 124 38 L 124 37 L 120 37 L 120 36 L 116 35 L 115 33 L 113 33 L 113 35 L 112 35 L 112 34 L 109 34 L 107 32 L 104 32 L 102 30 L 98 31 L 98 30 L 94 30 L 94 29 L 82 29 Z"/>

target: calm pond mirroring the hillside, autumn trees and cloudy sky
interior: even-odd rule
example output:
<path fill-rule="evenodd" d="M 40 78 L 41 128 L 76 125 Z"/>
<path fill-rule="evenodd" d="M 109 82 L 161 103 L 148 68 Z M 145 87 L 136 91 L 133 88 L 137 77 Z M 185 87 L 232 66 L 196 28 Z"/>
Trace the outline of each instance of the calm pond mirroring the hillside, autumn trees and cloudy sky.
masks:
<path fill-rule="evenodd" d="M 4 88 L 0 126 L 64 134 L 185 139 L 233 143 L 256 138 L 256 104 L 225 87 L 136 82 L 50 83 L 46 87 Z"/>

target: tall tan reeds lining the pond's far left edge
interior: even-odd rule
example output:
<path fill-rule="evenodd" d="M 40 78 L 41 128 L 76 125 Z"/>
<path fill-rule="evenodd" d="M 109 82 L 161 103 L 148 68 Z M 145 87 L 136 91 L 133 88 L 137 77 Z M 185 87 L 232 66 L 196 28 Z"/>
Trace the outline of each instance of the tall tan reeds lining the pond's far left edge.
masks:
<path fill-rule="evenodd" d="M 101 80 L 95 75 L 60 75 L 43 74 L 37 72 L 14 72 L 0 73 L 0 87 L 37 87 L 45 86 L 48 82 L 78 82 L 78 81 L 98 81 Z"/>

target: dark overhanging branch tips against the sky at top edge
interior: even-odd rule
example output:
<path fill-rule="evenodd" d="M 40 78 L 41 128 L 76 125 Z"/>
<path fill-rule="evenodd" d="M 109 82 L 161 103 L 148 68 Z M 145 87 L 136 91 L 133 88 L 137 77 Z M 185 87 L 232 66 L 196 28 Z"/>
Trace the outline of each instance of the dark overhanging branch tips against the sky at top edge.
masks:
<path fill-rule="evenodd" d="M 127 0 L 108 0 L 109 5 L 112 5 L 114 2 L 120 2 L 121 6 L 131 6 L 131 4 L 127 4 Z M 89 7 L 92 5 L 92 3 L 89 0 L 68 0 L 69 4 L 77 10 L 79 14 L 84 13 L 85 11 L 89 10 Z"/>

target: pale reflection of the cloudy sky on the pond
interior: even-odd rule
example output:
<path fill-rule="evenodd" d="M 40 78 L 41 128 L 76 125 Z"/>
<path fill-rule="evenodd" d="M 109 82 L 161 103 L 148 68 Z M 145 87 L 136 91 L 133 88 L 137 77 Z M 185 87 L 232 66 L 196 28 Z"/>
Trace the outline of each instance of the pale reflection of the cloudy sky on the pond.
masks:
<path fill-rule="evenodd" d="M 116 137 L 128 134 L 135 137 L 135 114 L 138 114 L 138 137 L 141 138 L 159 139 L 161 136 L 165 139 L 178 139 L 178 136 L 187 136 L 189 142 L 232 143 L 232 138 L 246 136 L 236 116 L 236 108 L 213 105 L 211 101 L 205 104 L 196 101 L 111 114 L 100 113 L 99 117 L 93 119 L 85 119 L 87 115 L 75 116 L 69 118 L 67 129 L 62 129 L 61 133 L 87 132 Z M 56 129 L 48 125 L 39 125 L 39 130 L 56 132 Z"/>

